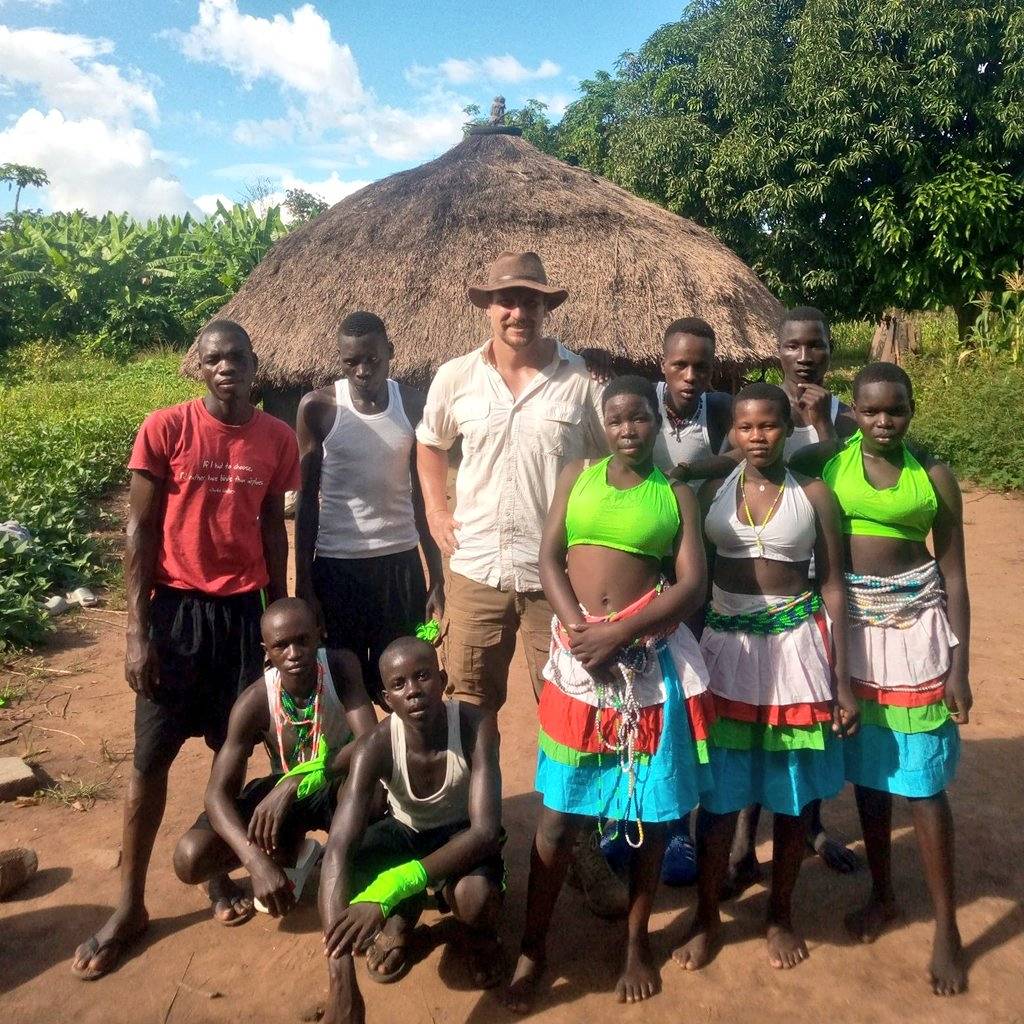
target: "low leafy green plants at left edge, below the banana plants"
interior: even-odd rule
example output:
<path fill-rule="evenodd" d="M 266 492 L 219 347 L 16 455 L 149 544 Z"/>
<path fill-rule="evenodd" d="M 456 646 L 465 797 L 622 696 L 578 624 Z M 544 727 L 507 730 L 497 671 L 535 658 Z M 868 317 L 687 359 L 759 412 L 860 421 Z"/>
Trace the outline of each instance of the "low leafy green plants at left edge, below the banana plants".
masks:
<path fill-rule="evenodd" d="M 89 534 L 98 499 L 125 478 L 145 415 L 197 393 L 178 361 L 62 356 L 40 344 L 3 360 L 0 522 L 16 520 L 33 541 L 0 538 L 0 651 L 45 637 L 43 598 L 104 579 L 104 553 Z"/>

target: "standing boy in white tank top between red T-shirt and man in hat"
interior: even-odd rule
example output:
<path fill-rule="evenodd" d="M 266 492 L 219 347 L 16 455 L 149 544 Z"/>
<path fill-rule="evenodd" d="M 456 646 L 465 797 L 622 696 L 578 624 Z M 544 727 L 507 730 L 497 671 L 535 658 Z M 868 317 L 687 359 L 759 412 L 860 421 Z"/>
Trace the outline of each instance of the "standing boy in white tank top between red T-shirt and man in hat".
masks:
<path fill-rule="evenodd" d="M 343 378 L 299 404 L 296 593 L 316 610 L 329 647 L 355 651 L 381 703 L 382 651 L 442 610 L 441 557 L 416 472 L 425 396 L 388 377 L 394 348 L 373 313 L 345 317 L 338 351 Z"/>

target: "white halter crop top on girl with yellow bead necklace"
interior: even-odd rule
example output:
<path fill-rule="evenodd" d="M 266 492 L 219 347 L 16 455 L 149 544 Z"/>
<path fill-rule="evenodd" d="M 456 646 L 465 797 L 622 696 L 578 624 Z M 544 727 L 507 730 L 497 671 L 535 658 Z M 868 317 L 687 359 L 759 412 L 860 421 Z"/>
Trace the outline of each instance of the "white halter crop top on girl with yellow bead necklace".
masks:
<path fill-rule="evenodd" d="M 740 520 L 737 503 L 739 474 L 746 463 L 740 463 L 718 488 L 705 519 L 705 534 L 715 545 L 720 558 L 768 558 L 776 562 L 806 562 L 814 554 L 817 527 L 814 507 L 794 475 L 785 471 L 785 489 L 771 519 L 764 529 L 755 530 Z M 761 539 L 763 551 L 758 549 Z"/>

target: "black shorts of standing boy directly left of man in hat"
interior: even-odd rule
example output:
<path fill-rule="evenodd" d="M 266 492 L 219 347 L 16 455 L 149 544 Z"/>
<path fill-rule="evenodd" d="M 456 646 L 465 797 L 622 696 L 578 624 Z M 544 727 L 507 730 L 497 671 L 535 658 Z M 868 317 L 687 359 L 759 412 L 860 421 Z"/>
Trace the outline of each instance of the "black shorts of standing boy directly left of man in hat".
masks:
<path fill-rule="evenodd" d="M 347 647 L 382 708 L 377 668 L 384 648 L 423 622 L 427 584 L 419 548 L 377 558 L 314 558 L 313 591 L 324 609 L 328 647 Z"/>

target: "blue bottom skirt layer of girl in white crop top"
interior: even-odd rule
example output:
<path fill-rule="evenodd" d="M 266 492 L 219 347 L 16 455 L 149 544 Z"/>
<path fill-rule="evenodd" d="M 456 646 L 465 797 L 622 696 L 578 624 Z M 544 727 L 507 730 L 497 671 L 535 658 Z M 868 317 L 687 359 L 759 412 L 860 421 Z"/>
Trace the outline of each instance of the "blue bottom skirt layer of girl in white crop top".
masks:
<path fill-rule="evenodd" d="M 825 739 L 823 751 L 734 751 L 711 746 L 714 788 L 703 798 L 712 814 L 730 814 L 751 804 L 775 814 L 800 812 L 812 800 L 828 800 L 844 785 L 841 742 Z"/>

